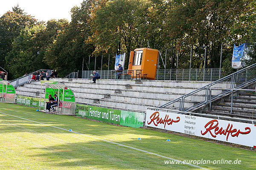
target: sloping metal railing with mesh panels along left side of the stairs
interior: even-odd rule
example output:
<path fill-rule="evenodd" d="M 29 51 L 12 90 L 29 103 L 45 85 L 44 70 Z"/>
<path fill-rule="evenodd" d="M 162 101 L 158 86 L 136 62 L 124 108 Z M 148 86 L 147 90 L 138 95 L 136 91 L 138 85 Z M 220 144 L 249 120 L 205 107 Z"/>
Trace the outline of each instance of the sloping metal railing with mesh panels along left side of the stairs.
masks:
<path fill-rule="evenodd" d="M 249 83 L 256 82 L 255 77 L 256 63 L 157 108 L 169 107 L 172 110 L 191 111 L 194 108 L 207 104 L 212 99 L 231 93 L 230 90 L 225 89 L 238 89 Z"/>

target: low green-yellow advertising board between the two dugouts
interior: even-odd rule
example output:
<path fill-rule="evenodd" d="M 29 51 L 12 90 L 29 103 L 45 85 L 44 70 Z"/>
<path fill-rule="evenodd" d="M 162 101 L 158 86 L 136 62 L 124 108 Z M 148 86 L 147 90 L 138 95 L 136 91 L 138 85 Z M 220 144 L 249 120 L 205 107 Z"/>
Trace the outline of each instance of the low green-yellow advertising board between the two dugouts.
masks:
<path fill-rule="evenodd" d="M 17 104 L 20 104 L 20 105 L 25 105 L 30 107 L 39 107 L 40 98 L 17 95 L 16 102 Z M 41 107 L 44 107 L 43 99 L 41 99 Z"/>

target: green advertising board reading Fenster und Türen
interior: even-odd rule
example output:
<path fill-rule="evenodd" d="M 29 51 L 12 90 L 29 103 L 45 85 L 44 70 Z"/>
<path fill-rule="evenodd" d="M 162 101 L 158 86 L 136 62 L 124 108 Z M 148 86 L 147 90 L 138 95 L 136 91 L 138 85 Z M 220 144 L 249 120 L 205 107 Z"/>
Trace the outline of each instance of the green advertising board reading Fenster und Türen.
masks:
<path fill-rule="evenodd" d="M 142 127 L 144 119 L 144 113 L 120 111 L 82 104 L 76 104 L 76 116 L 129 127 Z"/>

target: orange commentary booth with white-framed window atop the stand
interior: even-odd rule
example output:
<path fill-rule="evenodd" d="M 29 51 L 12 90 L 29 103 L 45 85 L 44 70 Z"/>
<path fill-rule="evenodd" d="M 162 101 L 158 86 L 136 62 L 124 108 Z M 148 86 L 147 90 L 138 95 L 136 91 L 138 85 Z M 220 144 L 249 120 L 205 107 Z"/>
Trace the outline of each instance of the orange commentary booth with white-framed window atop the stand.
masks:
<path fill-rule="evenodd" d="M 137 48 L 131 51 L 128 74 L 136 79 L 155 79 L 159 51 L 151 48 Z"/>

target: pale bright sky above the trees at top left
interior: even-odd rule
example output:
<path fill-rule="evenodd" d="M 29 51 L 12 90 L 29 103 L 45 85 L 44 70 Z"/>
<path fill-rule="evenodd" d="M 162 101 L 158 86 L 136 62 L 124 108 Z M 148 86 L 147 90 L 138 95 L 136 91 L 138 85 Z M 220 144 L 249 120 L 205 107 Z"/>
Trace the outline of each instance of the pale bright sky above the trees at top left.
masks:
<path fill-rule="evenodd" d="M 40 21 L 67 19 L 71 21 L 70 10 L 80 6 L 83 0 L 0 0 L 0 17 L 17 6 Z"/>

